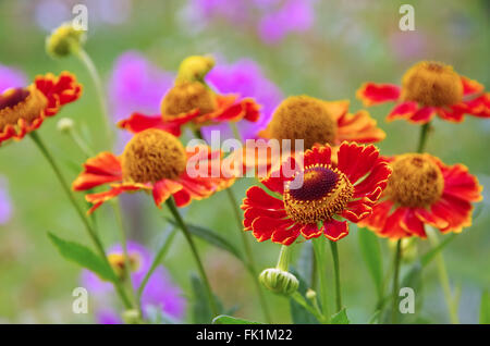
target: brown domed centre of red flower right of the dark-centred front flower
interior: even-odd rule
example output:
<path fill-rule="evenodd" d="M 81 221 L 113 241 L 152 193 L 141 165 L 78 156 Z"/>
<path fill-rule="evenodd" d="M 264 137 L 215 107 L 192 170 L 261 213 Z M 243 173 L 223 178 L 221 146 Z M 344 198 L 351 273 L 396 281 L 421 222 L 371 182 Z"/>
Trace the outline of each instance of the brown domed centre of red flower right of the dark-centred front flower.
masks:
<path fill-rule="evenodd" d="M 426 208 L 437 201 L 444 188 L 439 166 L 424 153 L 400 156 L 391 164 L 385 196 L 393 202 L 409 208 Z"/>

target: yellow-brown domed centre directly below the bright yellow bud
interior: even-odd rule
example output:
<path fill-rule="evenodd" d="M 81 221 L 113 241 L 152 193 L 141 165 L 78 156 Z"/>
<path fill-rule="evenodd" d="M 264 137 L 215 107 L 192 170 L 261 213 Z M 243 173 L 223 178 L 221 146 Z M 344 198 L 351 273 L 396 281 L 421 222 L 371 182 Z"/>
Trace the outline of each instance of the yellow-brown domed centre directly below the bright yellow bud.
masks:
<path fill-rule="evenodd" d="M 199 109 L 200 114 L 217 109 L 215 94 L 199 82 L 181 83 L 172 87 L 161 101 L 161 114 L 179 115 Z"/>

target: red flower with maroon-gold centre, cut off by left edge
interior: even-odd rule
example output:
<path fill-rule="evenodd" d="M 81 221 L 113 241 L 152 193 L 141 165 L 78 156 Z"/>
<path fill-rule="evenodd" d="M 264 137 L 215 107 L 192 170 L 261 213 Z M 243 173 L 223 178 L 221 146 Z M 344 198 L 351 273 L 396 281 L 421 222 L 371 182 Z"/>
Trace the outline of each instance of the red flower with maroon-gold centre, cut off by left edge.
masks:
<path fill-rule="evenodd" d="M 0 144 L 8 139 L 21 140 L 81 95 L 82 85 L 69 72 L 37 76 L 27 87 L 3 91 L 0 95 Z"/>

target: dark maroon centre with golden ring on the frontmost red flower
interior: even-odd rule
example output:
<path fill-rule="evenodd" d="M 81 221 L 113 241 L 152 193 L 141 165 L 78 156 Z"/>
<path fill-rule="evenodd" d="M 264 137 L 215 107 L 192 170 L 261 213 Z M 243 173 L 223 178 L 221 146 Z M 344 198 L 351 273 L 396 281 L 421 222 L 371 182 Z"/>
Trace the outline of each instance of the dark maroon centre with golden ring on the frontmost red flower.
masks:
<path fill-rule="evenodd" d="M 316 164 L 298 172 L 295 181 L 303 178 L 298 188 L 292 182 L 284 189 L 287 215 L 299 223 L 331 220 L 341 213 L 354 194 L 354 187 L 338 169 Z"/>

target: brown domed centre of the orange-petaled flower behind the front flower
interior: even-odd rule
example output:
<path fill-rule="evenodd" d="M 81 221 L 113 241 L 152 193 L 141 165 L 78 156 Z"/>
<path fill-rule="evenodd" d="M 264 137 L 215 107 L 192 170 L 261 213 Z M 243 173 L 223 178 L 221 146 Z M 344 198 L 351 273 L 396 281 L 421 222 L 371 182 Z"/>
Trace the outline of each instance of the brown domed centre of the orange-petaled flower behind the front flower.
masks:
<path fill-rule="evenodd" d="M 309 96 L 292 96 L 275 109 L 269 125 L 274 139 L 303 139 L 304 149 L 316 143 L 333 145 L 336 136 L 336 122 L 323 101 Z"/>

